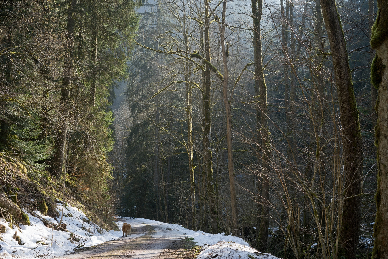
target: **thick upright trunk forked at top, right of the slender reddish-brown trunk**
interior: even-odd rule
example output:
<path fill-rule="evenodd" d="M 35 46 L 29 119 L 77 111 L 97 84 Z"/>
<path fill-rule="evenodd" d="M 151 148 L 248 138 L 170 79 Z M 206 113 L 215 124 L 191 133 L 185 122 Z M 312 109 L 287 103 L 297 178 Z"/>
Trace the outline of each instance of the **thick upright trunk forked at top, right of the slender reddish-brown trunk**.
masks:
<path fill-rule="evenodd" d="M 263 0 L 252 0 L 253 18 L 253 56 L 255 61 L 255 96 L 258 101 L 256 106 L 256 129 L 257 143 L 262 151 L 262 215 L 260 220 L 260 231 L 258 244 L 261 252 L 267 250 L 268 227 L 269 227 L 269 182 L 267 174 L 269 172 L 269 138 L 268 138 L 268 104 L 267 86 L 265 85 L 262 61 L 262 38 L 260 20 L 262 19 Z M 260 99 L 259 97 L 260 96 Z M 259 156 L 260 159 L 260 156 Z"/>

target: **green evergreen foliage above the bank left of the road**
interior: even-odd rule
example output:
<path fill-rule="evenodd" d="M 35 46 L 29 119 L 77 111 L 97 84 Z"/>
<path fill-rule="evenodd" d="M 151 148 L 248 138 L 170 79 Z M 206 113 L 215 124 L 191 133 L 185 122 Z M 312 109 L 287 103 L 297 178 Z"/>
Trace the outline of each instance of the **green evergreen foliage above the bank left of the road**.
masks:
<path fill-rule="evenodd" d="M 127 75 L 138 24 L 135 9 L 141 2 L 4 0 L 1 4 L 0 155 L 27 163 L 38 169 L 38 177 L 50 181 L 43 172 L 53 172 L 54 143 L 65 121 L 60 177 L 66 173 L 66 187 L 83 194 L 85 201 L 111 208 L 112 168 L 106 159 L 114 143 L 110 94 Z M 70 47 L 69 15 L 75 24 Z M 69 102 L 64 104 L 61 85 L 68 59 L 71 83 Z M 44 200 L 39 208 L 47 214 Z"/>

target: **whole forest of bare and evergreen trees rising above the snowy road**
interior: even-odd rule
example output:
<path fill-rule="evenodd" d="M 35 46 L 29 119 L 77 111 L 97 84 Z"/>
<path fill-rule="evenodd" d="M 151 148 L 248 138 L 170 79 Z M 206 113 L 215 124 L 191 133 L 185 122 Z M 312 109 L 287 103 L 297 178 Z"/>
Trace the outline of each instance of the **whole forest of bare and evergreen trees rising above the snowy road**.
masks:
<path fill-rule="evenodd" d="M 386 258 L 387 7 L 4 0 L 0 156 L 53 217 L 68 196 L 284 259 Z"/>

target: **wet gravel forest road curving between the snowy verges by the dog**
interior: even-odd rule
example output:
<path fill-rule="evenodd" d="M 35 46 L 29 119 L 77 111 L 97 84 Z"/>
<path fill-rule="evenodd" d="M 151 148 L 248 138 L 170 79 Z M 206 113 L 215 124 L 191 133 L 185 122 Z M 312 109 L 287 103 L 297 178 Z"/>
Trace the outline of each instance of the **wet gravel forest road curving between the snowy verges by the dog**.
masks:
<path fill-rule="evenodd" d="M 116 218 L 124 221 L 120 217 Z M 152 235 L 158 233 L 155 238 Z M 80 249 L 77 252 L 59 257 L 60 259 L 169 259 L 182 247 L 179 238 L 169 238 L 168 233 L 158 226 L 145 224 L 132 228 L 132 234 L 144 234 L 138 237 L 124 237 L 95 247 Z"/>

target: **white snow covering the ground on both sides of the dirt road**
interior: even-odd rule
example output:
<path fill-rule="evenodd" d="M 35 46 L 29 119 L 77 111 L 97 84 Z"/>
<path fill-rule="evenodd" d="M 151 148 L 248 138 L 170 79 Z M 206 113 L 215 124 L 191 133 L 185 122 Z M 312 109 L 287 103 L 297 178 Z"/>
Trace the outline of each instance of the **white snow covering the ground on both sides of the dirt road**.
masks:
<path fill-rule="evenodd" d="M 61 215 L 62 204 L 57 203 L 57 210 Z M 93 222 L 90 222 L 87 216 L 81 210 L 75 207 L 67 206 L 64 209 L 62 222 L 66 223 L 69 232 L 54 230 L 43 224 L 42 219 L 53 224 L 58 224 L 60 218 L 53 219 L 49 216 L 43 216 L 39 211 L 35 214 L 28 214 L 31 226 L 17 225 L 9 227 L 9 222 L 0 221 L 6 228 L 6 233 L 1 233 L 0 239 L 0 258 L 1 259 L 26 259 L 26 258 L 50 258 L 59 257 L 64 254 L 74 252 L 79 247 L 90 247 L 109 240 L 118 239 L 122 236 L 121 231 L 106 231 L 99 228 Z M 197 257 L 198 259 L 216 258 L 216 259 L 277 259 L 269 254 L 262 254 L 249 247 L 241 238 L 236 236 L 225 236 L 224 233 L 212 235 L 203 231 L 192 231 L 177 224 L 168 224 L 149 219 L 135 219 L 130 217 L 120 217 L 116 224 L 121 229 L 123 223 L 131 224 L 132 228 L 144 225 L 153 226 L 156 230 L 153 233 L 154 238 L 179 239 L 191 238 L 197 245 L 203 246 L 203 251 Z M 46 223 L 47 225 L 47 223 Z M 21 245 L 14 240 L 13 236 L 20 237 Z M 71 233 L 73 233 L 71 235 Z M 136 238 L 144 234 L 131 234 Z"/>

